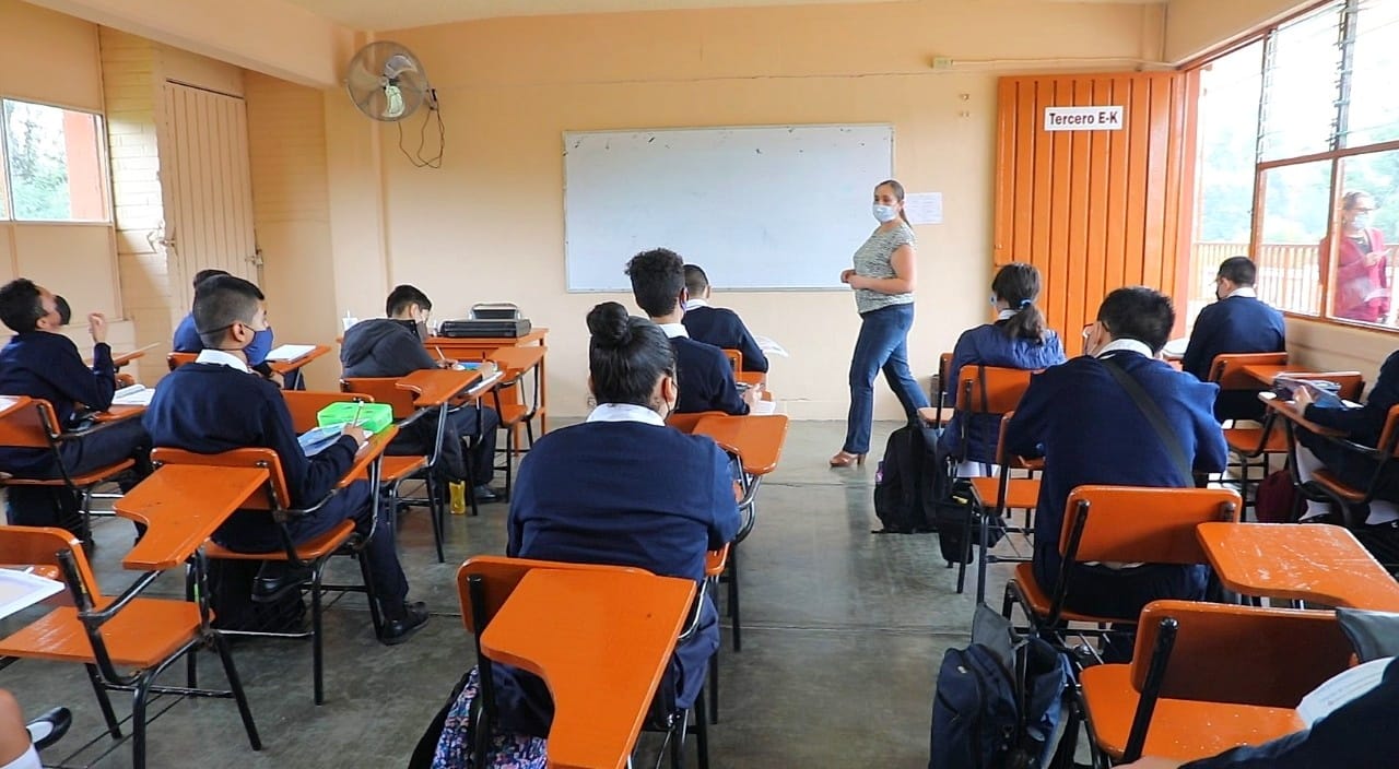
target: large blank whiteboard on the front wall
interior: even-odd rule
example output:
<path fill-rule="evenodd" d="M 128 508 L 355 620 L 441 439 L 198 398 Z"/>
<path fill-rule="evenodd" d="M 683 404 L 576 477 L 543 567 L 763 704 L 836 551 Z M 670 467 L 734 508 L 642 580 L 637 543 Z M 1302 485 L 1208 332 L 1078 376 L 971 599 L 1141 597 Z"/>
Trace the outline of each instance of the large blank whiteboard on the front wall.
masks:
<path fill-rule="evenodd" d="M 844 289 L 893 152 L 887 124 L 565 133 L 568 291 L 631 291 L 653 247 L 715 288 Z"/>

